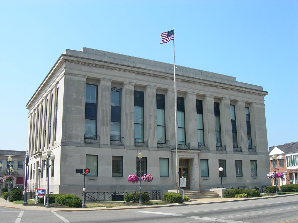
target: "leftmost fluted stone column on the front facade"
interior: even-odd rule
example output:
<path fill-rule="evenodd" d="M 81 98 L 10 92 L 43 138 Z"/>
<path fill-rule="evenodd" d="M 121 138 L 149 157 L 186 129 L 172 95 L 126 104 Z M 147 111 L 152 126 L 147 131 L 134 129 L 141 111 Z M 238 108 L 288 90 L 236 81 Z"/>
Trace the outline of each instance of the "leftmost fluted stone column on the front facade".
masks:
<path fill-rule="evenodd" d="M 99 81 L 98 90 L 98 109 L 100 125 L 97 129 L 100 129 L 100 144 L 111 145 L 111 82 L 110 79 L 101 78 Z"/>

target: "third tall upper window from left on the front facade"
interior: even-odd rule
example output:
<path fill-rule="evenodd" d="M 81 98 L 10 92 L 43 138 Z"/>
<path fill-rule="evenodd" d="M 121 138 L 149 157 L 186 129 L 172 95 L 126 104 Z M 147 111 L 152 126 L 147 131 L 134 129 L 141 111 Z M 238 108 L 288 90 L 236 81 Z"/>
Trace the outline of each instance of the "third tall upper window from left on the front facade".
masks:
<path fill-rule="evenodd" d="M 144 92 L 134 91 L 134 138 L 144 140 Z"/>

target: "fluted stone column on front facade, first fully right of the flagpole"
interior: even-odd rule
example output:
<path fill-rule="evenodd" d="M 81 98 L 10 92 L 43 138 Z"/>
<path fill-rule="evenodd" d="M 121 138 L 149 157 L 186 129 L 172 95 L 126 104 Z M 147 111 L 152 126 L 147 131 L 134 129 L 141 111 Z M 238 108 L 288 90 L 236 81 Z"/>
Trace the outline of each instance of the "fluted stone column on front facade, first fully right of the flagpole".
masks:
<path fill-rule="evenodd" d="M 189 141 L 190 149 L 198 149 L 197 131 L 197 108 L 195 102 L 195 92 L 185 94 L 185 133 L 186 141 Z"/>

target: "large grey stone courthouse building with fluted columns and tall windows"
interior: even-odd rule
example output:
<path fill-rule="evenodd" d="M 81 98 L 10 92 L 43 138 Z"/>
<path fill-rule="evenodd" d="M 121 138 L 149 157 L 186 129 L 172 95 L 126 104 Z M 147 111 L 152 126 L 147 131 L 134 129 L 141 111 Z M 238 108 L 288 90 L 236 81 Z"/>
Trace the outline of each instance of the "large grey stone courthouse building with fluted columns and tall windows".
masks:
<path fill-rule="evenodd" d="M 235 77 L 177 66 L 177 164 L 186 189 L 269 185 L 264 97 Z M 28 182 L 54 193 L 176 189 L 173 65 L 90 48 L 66 50 L 26 107 Z M 42 155 L 52 150 L 50 172 Z M 177 169 L 178 170 L 178 169 Z M 32 173 L 29 173 L 31 175 Z M 35 179 L 35 181 L 33 181 Z"/>

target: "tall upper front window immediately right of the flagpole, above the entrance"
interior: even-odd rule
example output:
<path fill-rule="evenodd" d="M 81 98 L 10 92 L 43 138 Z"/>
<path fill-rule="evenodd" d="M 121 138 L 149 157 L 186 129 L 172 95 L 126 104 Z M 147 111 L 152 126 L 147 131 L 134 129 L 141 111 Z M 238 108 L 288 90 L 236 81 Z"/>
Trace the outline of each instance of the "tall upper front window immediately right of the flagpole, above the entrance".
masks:
<path fill-rule="evenodd" d="M 185 115 L 184 115 L 184 98 L 177 97 L 177 123 L 178 123 L 178 141 L 185 143 Z"/>

